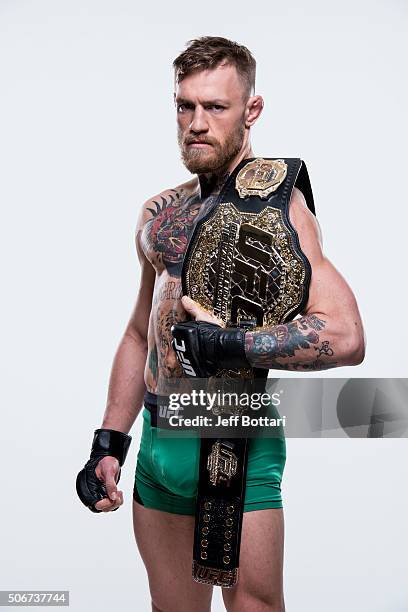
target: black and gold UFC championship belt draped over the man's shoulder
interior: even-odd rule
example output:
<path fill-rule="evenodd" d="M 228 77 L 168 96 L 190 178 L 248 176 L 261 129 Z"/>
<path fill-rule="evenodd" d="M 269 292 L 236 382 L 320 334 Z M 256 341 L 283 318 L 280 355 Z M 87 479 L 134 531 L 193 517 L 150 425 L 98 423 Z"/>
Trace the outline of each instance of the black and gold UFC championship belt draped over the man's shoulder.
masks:
<path fill-rule="evenodd" d="M 191 237 L 183 293 L 226 327 L 262 330 L 292 320 L 306 305 L 311 277 L 289 201 L 298 187 L 315 214 L 301 159 L 243 160 Z M 221 370 L 217 377 L 266 379 L 266 369 Z M 248 440 L 201 438 L 193 578 L 232 587 L 238 580 Z"/>

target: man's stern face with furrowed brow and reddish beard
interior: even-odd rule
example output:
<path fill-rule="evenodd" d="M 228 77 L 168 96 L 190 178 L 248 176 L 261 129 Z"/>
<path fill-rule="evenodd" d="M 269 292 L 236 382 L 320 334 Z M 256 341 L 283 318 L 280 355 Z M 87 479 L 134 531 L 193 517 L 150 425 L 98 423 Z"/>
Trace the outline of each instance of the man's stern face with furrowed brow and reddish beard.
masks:
<path fill-rule="evenodd" d="M 240 152 L 246 101 L 236 68 L 228 64 L 194 72 L 176 85 L 178 143 L 190 172 L 225 170 Z"/>

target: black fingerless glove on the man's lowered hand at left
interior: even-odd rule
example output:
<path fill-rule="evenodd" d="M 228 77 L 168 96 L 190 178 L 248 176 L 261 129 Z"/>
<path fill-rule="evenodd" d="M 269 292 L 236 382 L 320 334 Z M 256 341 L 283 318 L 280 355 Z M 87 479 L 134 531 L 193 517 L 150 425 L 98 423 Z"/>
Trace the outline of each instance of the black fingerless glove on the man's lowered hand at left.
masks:
<path fill-rule="evenodd" d="M 126 455 L 129 450 L 131 436 L 116 431 L 115 429 L 95 429 L 91 448 L 90 459 L 85 463 L 76 479 L 76 490 L 81 502 L 92 512 L 102 512 L 97 510 L 94 504 L 108 497 L 104 483 L 95 474 L 95 468 L 102 457 L 116 457 L 120 467 L 125 463 Z M 120 468 L 118 479 L 120 480 Z M 118 510 L 118 508 L 115 508 Z"/>

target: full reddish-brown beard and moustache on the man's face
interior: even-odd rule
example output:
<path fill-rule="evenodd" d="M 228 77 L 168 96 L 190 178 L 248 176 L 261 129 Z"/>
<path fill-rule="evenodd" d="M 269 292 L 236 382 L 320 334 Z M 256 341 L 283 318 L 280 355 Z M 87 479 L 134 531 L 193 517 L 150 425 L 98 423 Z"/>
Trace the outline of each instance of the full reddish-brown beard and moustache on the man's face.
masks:
<path fill-rule="evenodd" d="M 196 140 L 207 143 L 211 147 L 204 149 L 194 149 L 188 146 L 188 143 L 194 140 L 194 136 L 188 135 L 183 137 L 183 134 L 178 132 L 178 143 L 181 151 L 181 159 L 183 164 L 192 174 L 214 173 L 224 170 L 229 163 L 242 148 L 245 136 L 245 125 L 240 123 L 237 128 L 231 132 L 221 145 L 215 138 L 206 136 L 197 136 Z"/>

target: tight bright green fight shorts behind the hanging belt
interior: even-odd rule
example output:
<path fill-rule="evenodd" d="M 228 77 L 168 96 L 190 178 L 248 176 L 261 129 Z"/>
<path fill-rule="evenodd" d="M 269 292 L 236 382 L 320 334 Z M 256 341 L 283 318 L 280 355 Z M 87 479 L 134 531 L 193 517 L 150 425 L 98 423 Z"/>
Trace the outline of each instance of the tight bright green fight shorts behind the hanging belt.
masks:
<path fill-rule="evenodd" d="M 143 410 L 133 498 L 147 508 L 195 514 L 199 437 L 161 437 Z M 281 481 L 286 462 L 284 436 L 250 438 L 244 512 L 282 508 Z"/>

